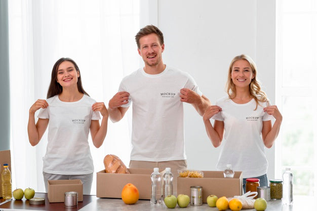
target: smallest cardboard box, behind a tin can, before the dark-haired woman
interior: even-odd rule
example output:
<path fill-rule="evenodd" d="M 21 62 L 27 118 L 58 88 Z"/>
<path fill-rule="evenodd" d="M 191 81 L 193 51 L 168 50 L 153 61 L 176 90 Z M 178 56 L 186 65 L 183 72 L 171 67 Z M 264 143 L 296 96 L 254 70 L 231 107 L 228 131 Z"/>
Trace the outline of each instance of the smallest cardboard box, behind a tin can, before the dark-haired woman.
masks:
<path fill-rule="evenodd" d="M 83 183 L 81 180 L 49 180 L 48 198 L 50 202 L 64 202 L 65 192 L 75 191 L 78 201 L 83 201 Z"/>

